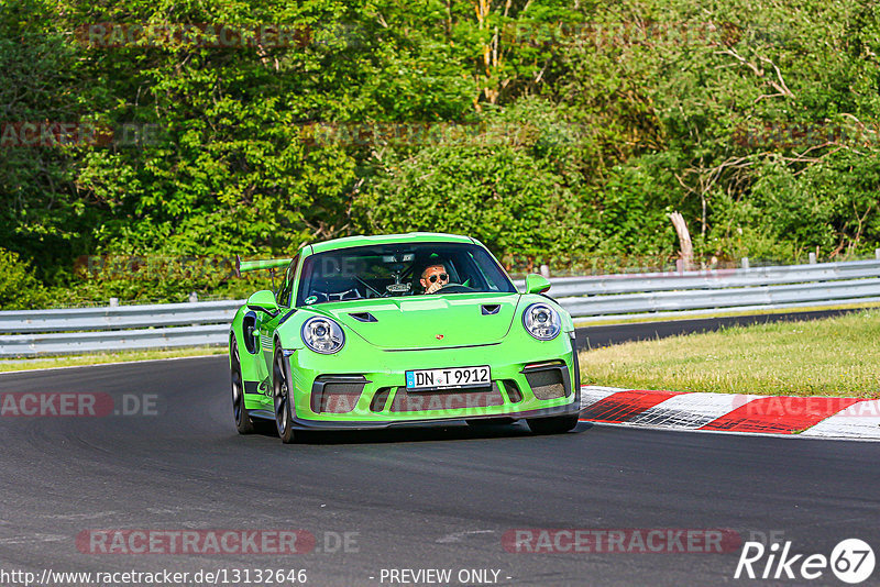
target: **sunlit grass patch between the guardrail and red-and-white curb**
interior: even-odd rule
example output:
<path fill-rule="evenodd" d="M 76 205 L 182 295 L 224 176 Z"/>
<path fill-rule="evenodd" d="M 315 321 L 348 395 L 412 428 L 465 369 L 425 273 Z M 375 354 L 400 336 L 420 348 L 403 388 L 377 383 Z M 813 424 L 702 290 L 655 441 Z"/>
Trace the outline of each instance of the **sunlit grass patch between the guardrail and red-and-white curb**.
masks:
<path fill-rule="evenodd" d="M 880 398 L 880 310 L 626 343 L 580 358 L 587 385 Z"/>

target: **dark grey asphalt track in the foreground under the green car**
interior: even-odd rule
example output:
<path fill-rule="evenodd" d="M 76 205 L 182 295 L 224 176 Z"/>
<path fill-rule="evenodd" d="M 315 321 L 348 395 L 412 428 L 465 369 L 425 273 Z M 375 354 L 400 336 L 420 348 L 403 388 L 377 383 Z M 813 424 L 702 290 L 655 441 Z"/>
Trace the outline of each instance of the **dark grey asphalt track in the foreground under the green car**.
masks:
<path fill-rule="evenodd" d="M 774 584 L 733 579 L 741 549 L 507 552 L 503 536 L 515 529 L 723 528 L 805 554 L 859 538 L 880 554 L 876 443 L 582 423 L 558 436 L 521 424 L 446 427 L 283 445 L 235 433 L 223 357 L 0 375 L 4 401 L 43 391 L 107 394 L 129 409 L 136 398 L 147 413 L 0 418 L 0 573 L 301 568 L 308 585 L 366 586 L 391 584 L 380 582 L 383 568 L 449 568 L 453 578 L 499 571 L 498 585 L 517 586 Z M 99 529 L 298 529 L 317 546 L 293 555 L 77 546 Z M 345 535 L 348 549 L 337 547 Z M 842 585 L 829 571 L 811 584 Z"/>

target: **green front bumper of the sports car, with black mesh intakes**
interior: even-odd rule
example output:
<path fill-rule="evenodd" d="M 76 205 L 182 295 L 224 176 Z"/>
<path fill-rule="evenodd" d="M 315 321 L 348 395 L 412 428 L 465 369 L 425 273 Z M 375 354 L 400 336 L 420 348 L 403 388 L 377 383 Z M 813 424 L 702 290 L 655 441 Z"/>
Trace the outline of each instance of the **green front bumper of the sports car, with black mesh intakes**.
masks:
<path fill-rule="evenodd" d="M 505 341 L 459 348 L 285 357 L 299 430 L 383 429 L 485 418 L 548 418 L 580 410 L 574 341 Z M 340 366 L 344 365 L 344 369 Z M 407 391 L 409 369 L 488 365 L 493 385 Z M 531 384 L 542 384 L 534 387 Z M 546 385 L 544 385 L 546 384 Z M 338 392 L 337 392 L 338 391 Z"/>

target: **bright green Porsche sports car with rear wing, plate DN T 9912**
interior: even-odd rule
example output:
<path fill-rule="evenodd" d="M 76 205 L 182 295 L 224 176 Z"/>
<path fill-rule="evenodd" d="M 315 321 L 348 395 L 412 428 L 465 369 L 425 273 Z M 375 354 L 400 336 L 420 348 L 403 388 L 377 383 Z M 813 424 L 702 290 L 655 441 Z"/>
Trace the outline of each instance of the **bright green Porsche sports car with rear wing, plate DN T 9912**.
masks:
<path fill-rule="evenodd" d="M 532 432 L 578 424 L 574 325 L 526 278 L 525 292 L 479 241 L 433 233 L 353 236 L 294 258 L 232 321 L 232 408 L 241 433 L 274 420 L 299 431 L 525 419 Z"/>

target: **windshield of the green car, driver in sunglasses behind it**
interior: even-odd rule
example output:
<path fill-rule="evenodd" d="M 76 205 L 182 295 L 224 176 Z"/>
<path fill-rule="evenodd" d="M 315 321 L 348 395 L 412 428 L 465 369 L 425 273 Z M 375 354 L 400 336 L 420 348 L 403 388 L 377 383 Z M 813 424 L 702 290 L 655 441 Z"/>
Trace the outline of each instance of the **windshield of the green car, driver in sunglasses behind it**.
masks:
<path fill-rule="evenodd" d="M 415 243 L 358 246 L 308 257 L 297 306 L 432 294 L 515 294 L 483 247 Z"/>

